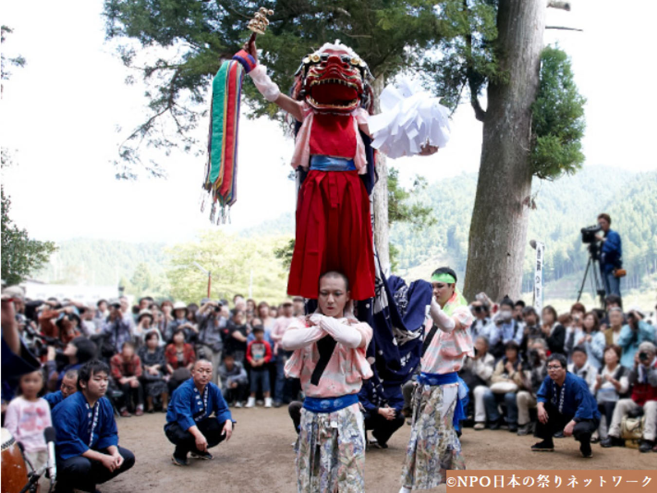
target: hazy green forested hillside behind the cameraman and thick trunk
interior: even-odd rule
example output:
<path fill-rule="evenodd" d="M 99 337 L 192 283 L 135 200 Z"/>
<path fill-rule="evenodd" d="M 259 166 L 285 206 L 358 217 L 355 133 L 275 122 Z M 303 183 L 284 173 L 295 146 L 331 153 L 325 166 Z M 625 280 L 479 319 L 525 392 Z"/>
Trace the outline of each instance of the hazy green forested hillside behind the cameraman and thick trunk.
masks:
<path fill-rule="evenodd" d="M 455 266 L 459 278 L 463 277 L 476 183 L 476 175 L 462 175 L 432 183 L 418 194 L 416 199 L 432 208 L 438 220 L 421 234 L 407 223 L 392 226 L 391 243 L 399 250 L 398 271 L 426 275 L 436 263 L 447 261 Z M 568 179 L 535 179 L 533 193 L 537 208 L 530 215 L 527 237 L 546 244 L 545 281 L 581 276 L 587 252 L 579 229 L 595 223 L 603 211 L 611 214 L 612 228 L 622 235 L 626 281 L 638 287 L 646 274 L 657 270 L 657 172 L 630 174 L 618 168 L 584 168 Z M 533 255 L 534 250 L 526 249 L 525 289 L 532 285 Z M 424 273 L 415 270 L 419 265 L 426 266 Z M 574 284 L 568 289 L 562 297 L 574 295 Z"/>

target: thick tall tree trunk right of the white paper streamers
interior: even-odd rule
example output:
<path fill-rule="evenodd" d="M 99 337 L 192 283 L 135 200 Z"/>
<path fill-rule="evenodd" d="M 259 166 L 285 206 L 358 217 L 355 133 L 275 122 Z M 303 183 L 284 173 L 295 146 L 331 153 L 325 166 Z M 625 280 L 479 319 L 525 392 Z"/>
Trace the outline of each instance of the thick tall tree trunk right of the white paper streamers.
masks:
<path fill-rule="evenodd" d="M 545 0 L 500 0 L 497 53 L 505 82 L 490 83 L 470 222 L 464 294 L 517 299 L 532 192 L 532 103 L 539 85 Z"/>

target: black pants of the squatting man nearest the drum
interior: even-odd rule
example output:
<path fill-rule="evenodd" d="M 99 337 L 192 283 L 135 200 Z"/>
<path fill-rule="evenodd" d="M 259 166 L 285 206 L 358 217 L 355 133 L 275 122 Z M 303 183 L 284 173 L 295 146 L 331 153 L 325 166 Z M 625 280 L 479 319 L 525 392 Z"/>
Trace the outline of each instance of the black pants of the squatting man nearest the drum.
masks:
<path fill-rule="evenodd" d="M 118 447 L 118 450 L 124 458 L 124 463 L 118 469 L 114 469 L 113 472 L 110 472 L 100 462 L 83 456 L 57 461 L 57 487 L 55 491 L 68 493 L 73 488 L 78 488 L 79 490 L 93 492 L 96 490 L 97 484 L 109 481 L 135 465 L 135 454 L 123 447 Z M 108 453 L 106 450 L 99 452 Z"/>

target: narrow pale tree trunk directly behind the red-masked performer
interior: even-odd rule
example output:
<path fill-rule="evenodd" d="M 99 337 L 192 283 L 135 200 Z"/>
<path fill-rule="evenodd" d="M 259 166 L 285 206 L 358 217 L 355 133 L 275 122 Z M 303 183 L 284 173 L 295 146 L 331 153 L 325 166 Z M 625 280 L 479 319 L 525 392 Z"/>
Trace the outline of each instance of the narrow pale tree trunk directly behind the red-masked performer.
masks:
<path fill-rule="evenodd" d="M 378 97 L 385 87 L 383 76 L 379 76 L 372 83 L 374 93 L 374 112 L 380 112 Z M 377 153 L 376 173 L 378 181 L 372 191 L 374 214 L 374 245 L 378 252 L 378 260 L 384 273 L 390 273 L 390 223 L 388 222 L 388 163 L 386 156 Z"/>

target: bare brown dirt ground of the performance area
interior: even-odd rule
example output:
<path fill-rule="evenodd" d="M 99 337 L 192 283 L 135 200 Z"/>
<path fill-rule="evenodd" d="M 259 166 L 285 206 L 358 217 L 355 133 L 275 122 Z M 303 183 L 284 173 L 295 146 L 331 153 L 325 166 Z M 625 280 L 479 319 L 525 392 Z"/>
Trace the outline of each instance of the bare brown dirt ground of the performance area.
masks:
<path fill-rule="evenodd" d="M 118 418 L 120 444 L 135 453 L 135 467 L 99 485 L 102 493 L 189 492 L 250 493 L 296 491 L 296 434 L 286 408 L 233 410 L 233 438 L 211 449 L 214 459 L 191 459 L 189 467 L 171 464 L 173 446 L 164 436 L 164 414 Z M 368 450 L 367 491 L 396 493 L 411 427 L 404 425 L 387 450 Z M 461 437 L 468 469 L 656 469 L 657 454 L 593 446 L 593 459 L 579 455 L 572 438 L 555 440 L 555 452 L 531 452 L 532 436 L 509 431 L 465 429 Z M 433 491 L 445 491 L 445 486 Z"/>

